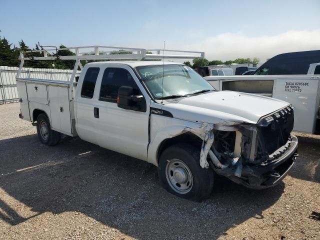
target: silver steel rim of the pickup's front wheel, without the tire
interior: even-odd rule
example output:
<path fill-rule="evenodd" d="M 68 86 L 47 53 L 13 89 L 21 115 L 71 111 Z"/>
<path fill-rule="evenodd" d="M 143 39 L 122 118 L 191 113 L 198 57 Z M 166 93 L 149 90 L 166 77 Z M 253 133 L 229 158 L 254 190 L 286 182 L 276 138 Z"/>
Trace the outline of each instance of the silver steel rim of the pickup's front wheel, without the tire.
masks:
<path fill-rule="evenodd" d="M 193 177 L 189 167 L 179 159 L 171 159 L 166 164 L 165 177 L 170 187 L 177 193 L 189 192 L 193 185 Z"/>

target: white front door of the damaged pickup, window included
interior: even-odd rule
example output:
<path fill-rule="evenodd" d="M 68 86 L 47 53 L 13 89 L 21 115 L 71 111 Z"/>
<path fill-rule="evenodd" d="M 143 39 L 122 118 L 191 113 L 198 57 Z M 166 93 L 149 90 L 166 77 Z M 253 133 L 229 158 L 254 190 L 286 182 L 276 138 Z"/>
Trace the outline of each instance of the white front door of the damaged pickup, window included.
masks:
<path fill-rule="evenodd" d="M 146 160 L 149 98 L 133 70 L 126 65 L 114 67 L 113 64 L 112 67 L 104 69 L 99 85 L 99 95 L 95 105 L 98 108 L 98 118 L 96 118 L 98 144 Z M 146 111 L 119 108 L 116 98 L 120 86 L 130 86 L 143 95 Z"/>

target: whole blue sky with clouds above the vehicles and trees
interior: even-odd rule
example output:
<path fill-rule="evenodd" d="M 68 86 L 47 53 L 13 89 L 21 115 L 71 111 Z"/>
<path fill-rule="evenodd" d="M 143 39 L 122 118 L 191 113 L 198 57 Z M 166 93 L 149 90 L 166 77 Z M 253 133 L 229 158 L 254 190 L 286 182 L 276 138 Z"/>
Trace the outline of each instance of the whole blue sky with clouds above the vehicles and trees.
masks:
<path fill-rule="evenodd" d="M 0 36 L 43 45 L 204 51 L 209 60 L 320 49 L 320 0 L 0 0 Z"/>

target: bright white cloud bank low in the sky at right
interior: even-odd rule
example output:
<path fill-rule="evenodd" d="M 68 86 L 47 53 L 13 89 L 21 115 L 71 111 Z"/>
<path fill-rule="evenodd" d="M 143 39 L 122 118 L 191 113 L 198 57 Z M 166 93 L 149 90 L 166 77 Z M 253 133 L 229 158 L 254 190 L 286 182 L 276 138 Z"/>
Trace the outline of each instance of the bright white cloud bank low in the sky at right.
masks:
<path fill-rule="evenodd" d="M 205 52 L 209 60 L 229 60 L 237 57 L 258 57 L 261 62 L 274 55 L 303 50 L 320 49 L 320 29 L 310 31 L 287 31 L 277 35 L 247 36 L 226 32 L 206 37 L 193 44 L 176 44 L 180 49 Z"/>

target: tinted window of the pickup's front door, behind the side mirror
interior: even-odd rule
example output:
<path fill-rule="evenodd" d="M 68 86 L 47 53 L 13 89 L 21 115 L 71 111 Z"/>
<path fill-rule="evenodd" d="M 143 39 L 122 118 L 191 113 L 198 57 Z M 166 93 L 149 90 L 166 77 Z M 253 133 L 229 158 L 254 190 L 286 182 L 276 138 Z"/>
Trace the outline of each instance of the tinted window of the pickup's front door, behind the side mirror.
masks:
<path fill-rule="evenodd" d="M 99 100 L 116 102 L 120 86 L 132 87 L 135 95 L 140 92 L 131 74 L 126 69 L 105 68 L 102 76 Z"/>

